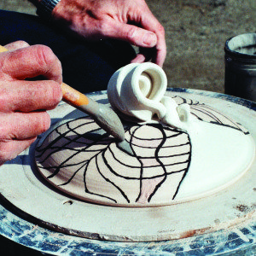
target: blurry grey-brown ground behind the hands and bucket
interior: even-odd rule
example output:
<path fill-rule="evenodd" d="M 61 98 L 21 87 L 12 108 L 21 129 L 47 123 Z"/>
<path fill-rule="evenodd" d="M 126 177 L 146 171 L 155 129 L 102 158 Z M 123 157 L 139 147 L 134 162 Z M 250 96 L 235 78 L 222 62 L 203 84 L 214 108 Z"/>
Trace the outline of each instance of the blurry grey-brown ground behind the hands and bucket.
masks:
<path fill-rule="evenodd" d="M 146 2 L 166 29 L 168 85 L 224 92 L 224 43 L 238 34 L 256 32 L 256 1 Z M 36 15 L 27 0 L 1 0 L 0 9 Z"/>

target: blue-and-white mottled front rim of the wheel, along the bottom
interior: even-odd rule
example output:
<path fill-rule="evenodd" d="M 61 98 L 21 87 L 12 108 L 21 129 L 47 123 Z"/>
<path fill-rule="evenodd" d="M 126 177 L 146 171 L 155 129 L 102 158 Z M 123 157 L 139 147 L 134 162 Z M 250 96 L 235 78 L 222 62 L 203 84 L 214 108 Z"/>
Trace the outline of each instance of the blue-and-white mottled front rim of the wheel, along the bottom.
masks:
<path fill-rule="evenodd" d="M 20 245 L 53 255 L 199 256 L 255 255 L 256 253 L 256 221 L 236 229 L 236 232 L 220 230 L 212 234 L 177 241 L 113 242 L 89 240 L 45 230 L 17 217 L 2 206 L 0 206 L 0 216 L 2 236 Z M 17 255 L 20 255 L 19 252 Z"/>

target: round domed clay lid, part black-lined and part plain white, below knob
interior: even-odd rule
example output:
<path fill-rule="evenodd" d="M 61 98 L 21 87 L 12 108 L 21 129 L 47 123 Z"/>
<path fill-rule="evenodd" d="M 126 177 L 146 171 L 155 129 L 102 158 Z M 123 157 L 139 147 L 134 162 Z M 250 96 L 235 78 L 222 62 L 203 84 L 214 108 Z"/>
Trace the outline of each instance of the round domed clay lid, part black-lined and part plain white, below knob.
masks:
<path fill-rule="evenodd" d="M 154 80 L 150 75 L 148 71 L 147 83 Z M 166 90 L 166 85 L 157 86 Z M 255 154 L 254 143 L 236 121 L 189 98 L 163 94 L 147 100 L 148 91 L 154 90 L 143 84 L 140 89 L 147 93 L 135 93 L 132 106 L 142 108 L 142 103 L 136 103 L 138 98 L 152 108 L 123 111 L 130 120 L 144 121 L 124 121 L 125 139 L 133 154 L 119 148 L 89 116 L 74 111 L 36 148 L 38 169 L 49 183 L 84 201 L 148 207 L 205 196 L 224 189 L 247 171 Z M 122 111 L 127 108 L 125 102 L 123 108 L 117 107 L 119 103 L 114 108 Z"/>

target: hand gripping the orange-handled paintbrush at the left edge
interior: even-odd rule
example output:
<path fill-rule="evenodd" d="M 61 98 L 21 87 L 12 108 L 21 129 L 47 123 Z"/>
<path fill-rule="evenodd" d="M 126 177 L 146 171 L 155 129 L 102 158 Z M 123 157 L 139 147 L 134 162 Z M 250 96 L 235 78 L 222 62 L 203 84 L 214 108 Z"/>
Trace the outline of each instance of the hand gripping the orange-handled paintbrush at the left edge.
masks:
<path fill-rule="evenodd" d="M 50 125 L 61 101 L 61 63 L 43 45 L 8 44 L 0 54 L 0 165 L 14 159 Z M 28 81 L 38 76 L 45 80 Z"/>

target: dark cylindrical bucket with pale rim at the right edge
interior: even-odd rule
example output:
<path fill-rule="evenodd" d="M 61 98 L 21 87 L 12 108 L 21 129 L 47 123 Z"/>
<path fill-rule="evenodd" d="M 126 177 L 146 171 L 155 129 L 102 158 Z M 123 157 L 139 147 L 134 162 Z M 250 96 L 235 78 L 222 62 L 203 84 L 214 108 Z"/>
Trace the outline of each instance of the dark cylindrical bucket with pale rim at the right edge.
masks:
<path fill-rule="evenodd" d="M 256 33 L 226 41 L 225 94 L 256 102 Z"/>

